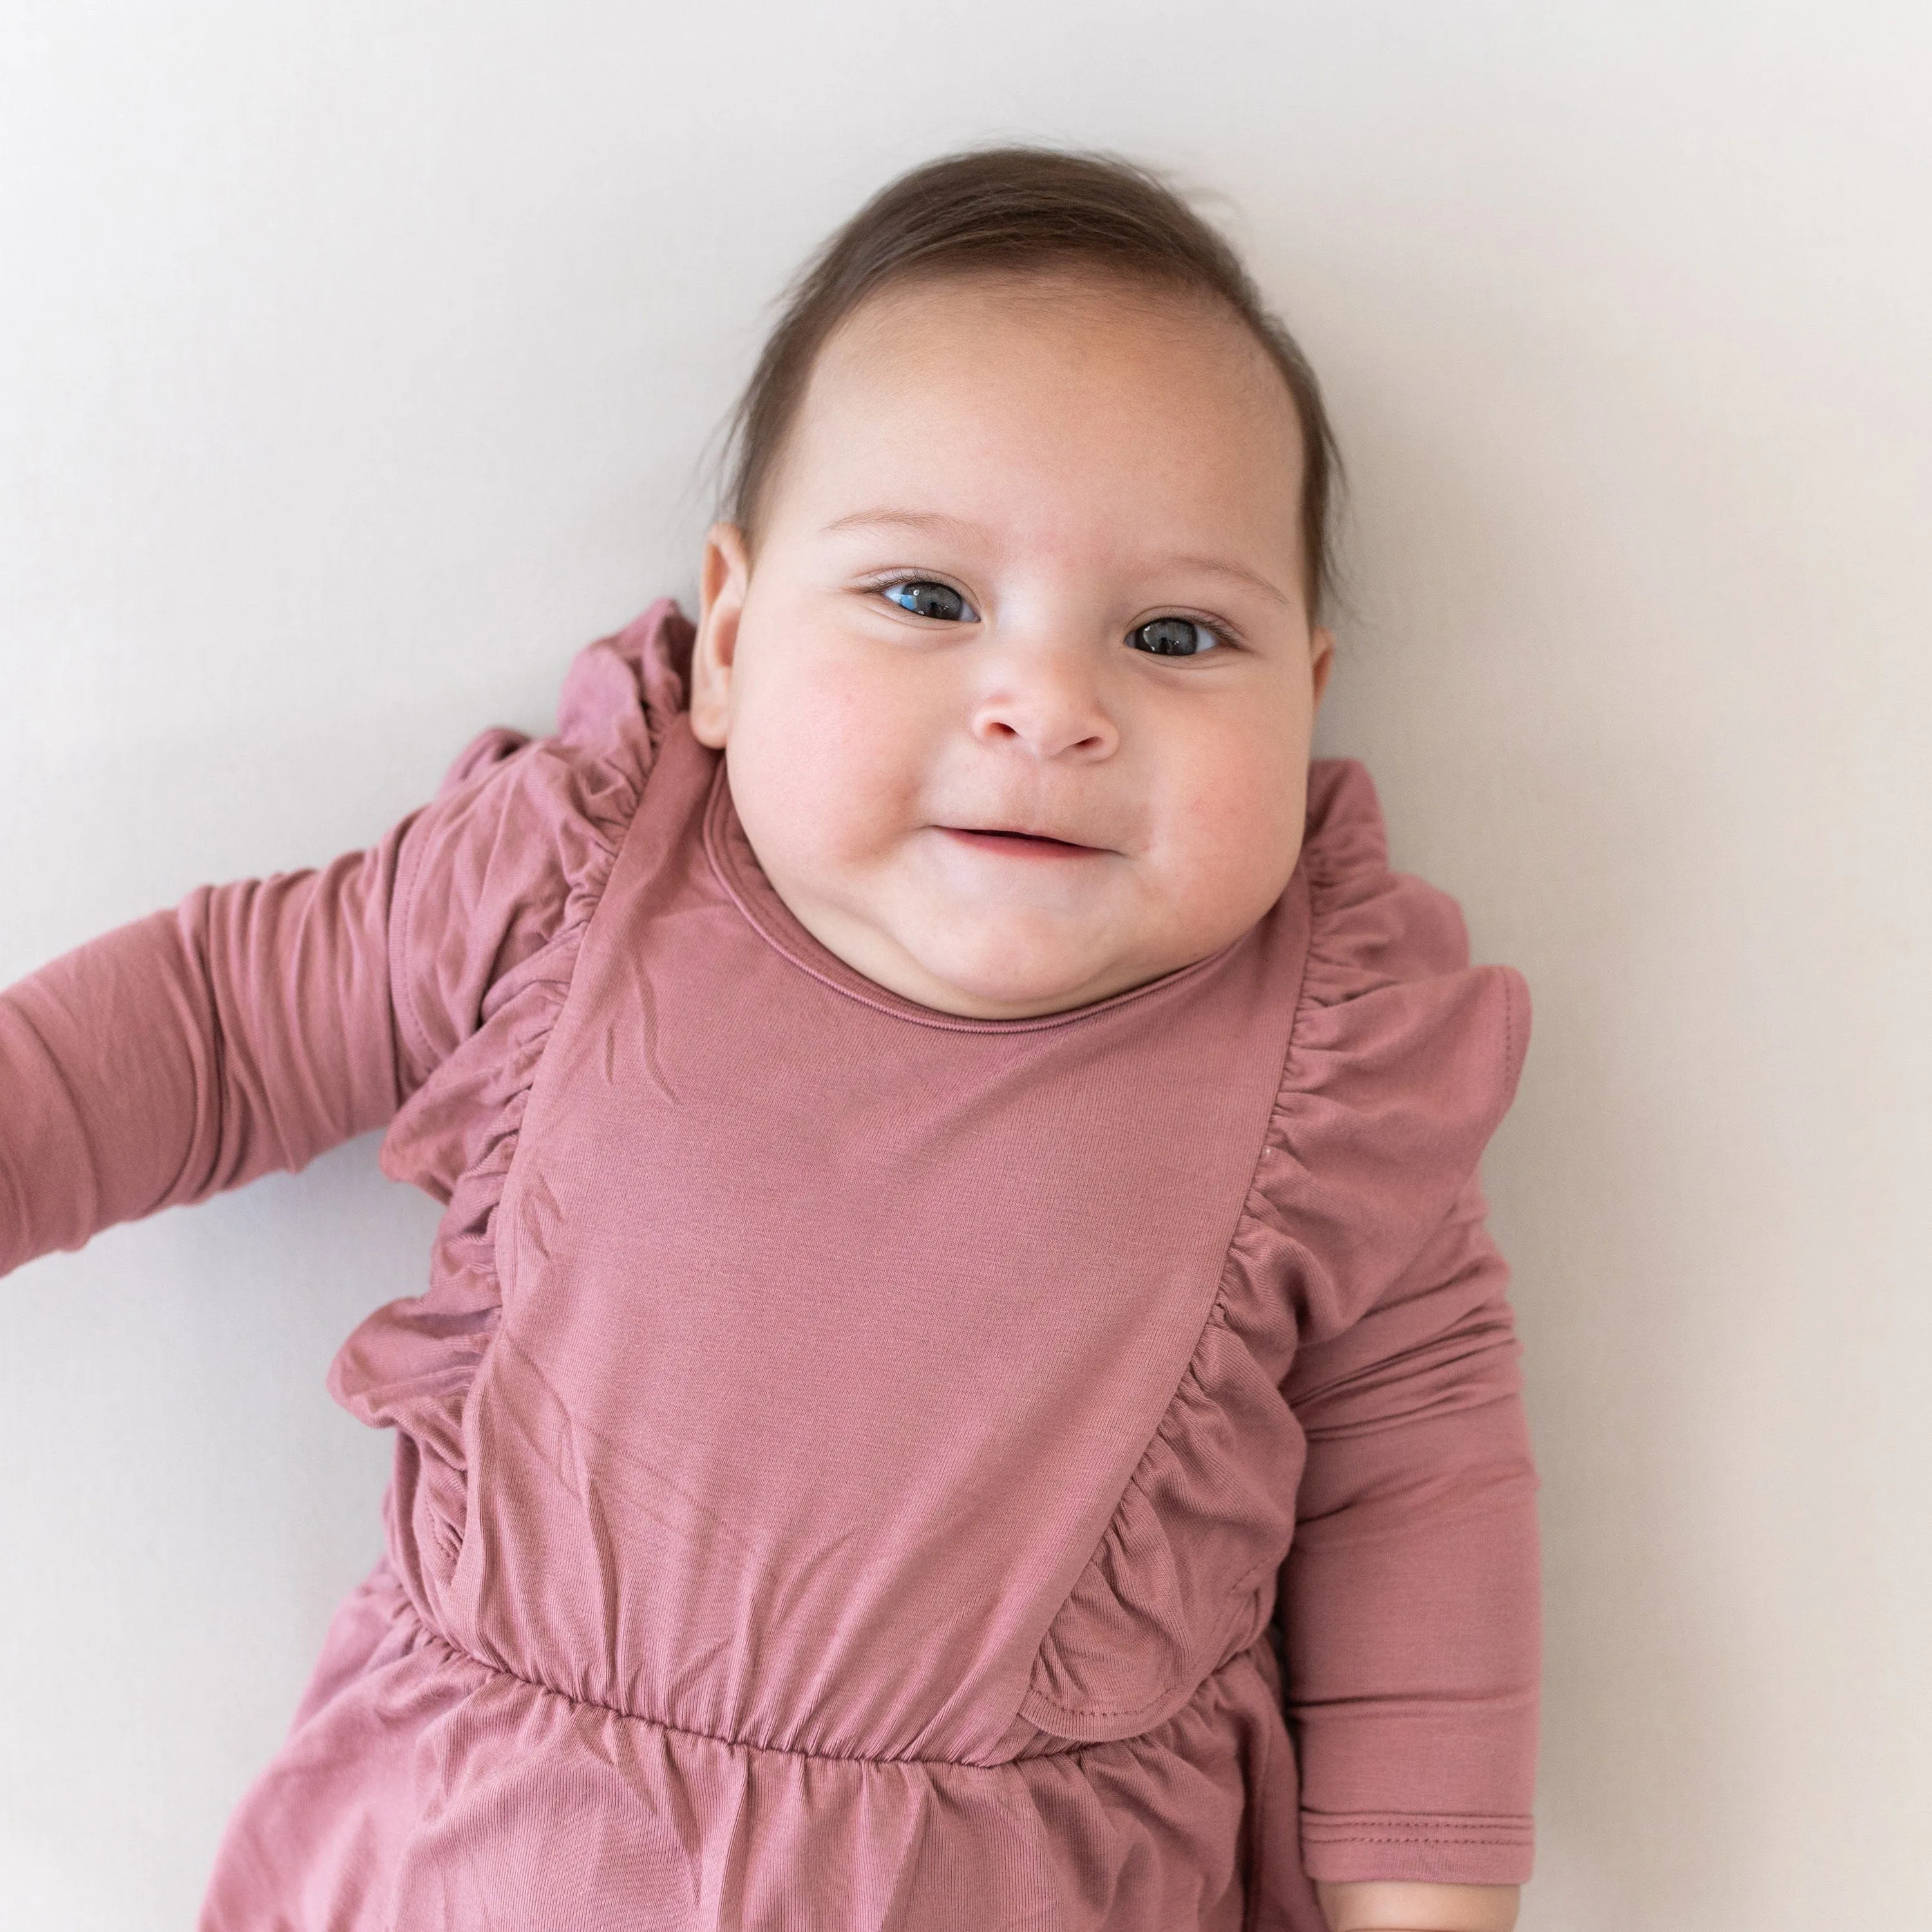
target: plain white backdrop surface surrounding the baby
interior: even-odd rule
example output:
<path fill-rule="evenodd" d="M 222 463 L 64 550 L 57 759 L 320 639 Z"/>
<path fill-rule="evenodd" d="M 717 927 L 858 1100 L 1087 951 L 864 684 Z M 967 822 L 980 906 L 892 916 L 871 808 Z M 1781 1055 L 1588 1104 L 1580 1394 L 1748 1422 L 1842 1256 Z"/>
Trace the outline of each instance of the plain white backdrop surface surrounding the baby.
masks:
<path fill-rule="evenodd" d="M 1354 475 L 1321 746 L 1536 997 L 1524 1926 L 1932 1924 L 1928 79 L 1876 0 L 14 0 L 0 981 L 690 599 L 765 303 L 891 172 L 1179 166 Z M 435 1211 L 373 1151 L 0 1287 L 10 1924 L 191 1922 L 377 1553 L 323 1374 Z"/>

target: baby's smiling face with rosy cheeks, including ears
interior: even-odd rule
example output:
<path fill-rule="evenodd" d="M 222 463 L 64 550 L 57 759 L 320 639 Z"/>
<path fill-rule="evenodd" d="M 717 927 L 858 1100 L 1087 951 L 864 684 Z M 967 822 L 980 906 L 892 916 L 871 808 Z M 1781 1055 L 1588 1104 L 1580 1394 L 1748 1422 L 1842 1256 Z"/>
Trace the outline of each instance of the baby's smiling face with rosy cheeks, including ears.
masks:
<path fill-rule="evenodd" d="M 711 531 L 692 726 L 846 964 L 1024 1018 L 1281 895 L 1329 668 L 1300 431 L 1246 330 L 1092 276 L 887 290 L 813 369 L 755 560 Z"/>

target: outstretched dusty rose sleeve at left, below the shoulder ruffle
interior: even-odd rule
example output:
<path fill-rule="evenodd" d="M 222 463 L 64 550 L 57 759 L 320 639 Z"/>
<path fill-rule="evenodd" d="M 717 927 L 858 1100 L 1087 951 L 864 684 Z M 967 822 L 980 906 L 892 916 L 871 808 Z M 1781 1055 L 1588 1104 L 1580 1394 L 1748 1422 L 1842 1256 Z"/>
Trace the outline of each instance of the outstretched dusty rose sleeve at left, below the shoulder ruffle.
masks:
<path fill-rule="evenodd" d="M 408 823 L 323 871 L 201 887 L 0 991 L 0 1275 L 390 1119 Z"/>

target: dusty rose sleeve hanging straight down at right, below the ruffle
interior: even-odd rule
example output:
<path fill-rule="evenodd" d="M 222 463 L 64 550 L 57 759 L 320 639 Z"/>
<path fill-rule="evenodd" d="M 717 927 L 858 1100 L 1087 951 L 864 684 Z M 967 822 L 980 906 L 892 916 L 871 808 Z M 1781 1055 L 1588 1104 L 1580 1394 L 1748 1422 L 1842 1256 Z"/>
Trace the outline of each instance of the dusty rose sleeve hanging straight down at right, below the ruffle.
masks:
<path fill-rule="evenodd" d="M 1406 1275 L 1306 1347 L 1283 1565 L 1310 1876 L 1528 1878 L 1538 1540 L 1509 1269 L 1470 1180 Z"/>

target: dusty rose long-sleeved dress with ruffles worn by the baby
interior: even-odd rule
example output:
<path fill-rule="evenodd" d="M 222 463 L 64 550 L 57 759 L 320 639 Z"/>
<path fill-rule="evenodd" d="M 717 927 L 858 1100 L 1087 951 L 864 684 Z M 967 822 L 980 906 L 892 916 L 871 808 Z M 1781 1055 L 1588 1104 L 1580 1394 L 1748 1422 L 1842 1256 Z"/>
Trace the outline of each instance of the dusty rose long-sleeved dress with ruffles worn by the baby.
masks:
<path fill-rule="evenodd" d="M 912 1005 L 763 879 L 688 651 L 655 605 L 371 850 L 0 995 L 0 1269 L 384 1122 L 446 1204 L 332 1372 L 388 1553 L 205 1928 L 1318 1932 L 1310 1876 L 1524 1878 L 1520 978 L 1318 761 L 1213 958 Z"/>

